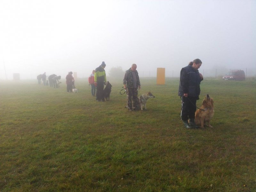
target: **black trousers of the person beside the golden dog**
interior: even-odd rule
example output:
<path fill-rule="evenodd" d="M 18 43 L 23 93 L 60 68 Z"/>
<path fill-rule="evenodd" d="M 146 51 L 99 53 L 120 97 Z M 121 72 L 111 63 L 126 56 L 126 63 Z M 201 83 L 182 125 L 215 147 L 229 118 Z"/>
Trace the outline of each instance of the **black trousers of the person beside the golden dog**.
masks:
<path fill-rule="evenodd" d="M 195 119 L 196 100 L 198 97 L 180 97 L 181 99 L 181 120 Z"/>

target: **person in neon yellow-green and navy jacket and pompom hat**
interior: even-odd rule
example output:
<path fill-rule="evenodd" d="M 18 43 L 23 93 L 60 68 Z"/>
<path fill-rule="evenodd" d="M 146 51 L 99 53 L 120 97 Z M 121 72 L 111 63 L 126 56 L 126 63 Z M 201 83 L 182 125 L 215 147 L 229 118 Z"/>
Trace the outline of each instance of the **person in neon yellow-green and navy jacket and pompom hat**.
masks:
<path fill-rule="evenodd" d="M 104 84 L 107 82 L 106 72 L 104 70 L 105 67 L 106 64 L 103 61 L 101 65 L 95 69 L 94 85 L 96 87 L 96 100 L 98 101 L 105 101 L 103 96 Z"/>

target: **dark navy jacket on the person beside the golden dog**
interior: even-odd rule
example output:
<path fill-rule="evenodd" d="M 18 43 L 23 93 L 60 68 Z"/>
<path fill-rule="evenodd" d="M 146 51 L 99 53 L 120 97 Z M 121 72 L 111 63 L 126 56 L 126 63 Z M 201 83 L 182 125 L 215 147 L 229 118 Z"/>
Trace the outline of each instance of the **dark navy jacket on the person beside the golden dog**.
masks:
<path fill-rule="evenodd" d="M 179 96 L 188 93 L 188 97 L 198 97 L 200 95 L 200 78 L 199 71 L 191 65 L 184 67 L 180 71 Z"/>

